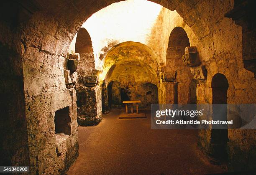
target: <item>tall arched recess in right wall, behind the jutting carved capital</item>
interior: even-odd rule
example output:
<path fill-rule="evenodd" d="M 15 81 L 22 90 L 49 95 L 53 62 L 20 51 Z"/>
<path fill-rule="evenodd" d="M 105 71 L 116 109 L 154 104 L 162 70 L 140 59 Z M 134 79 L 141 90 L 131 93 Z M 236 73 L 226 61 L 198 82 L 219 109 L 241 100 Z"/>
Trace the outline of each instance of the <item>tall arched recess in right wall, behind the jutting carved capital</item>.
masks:
<path fill-rule="evenodd" d="M 169 43 L 166 53 L 166 67 L 164 71 L 166 74 L 175 74 L 173 89 L 171 90 L 176 96 L 178 104 L 191 103 L 191 89 L 190 82 L 192 81 L 192 74 L 190 68 L 185 66 L 182 62 L 182 55 L 184 55 L 185 47 L 190 46 L 189 38 L 186 31 L 182 27 L 176 27 L 172 30 L 169 36 Z M 174 88 L 175 87 L 175 88 Z M 193 101 L 194 102 L 194 101 Z"/>

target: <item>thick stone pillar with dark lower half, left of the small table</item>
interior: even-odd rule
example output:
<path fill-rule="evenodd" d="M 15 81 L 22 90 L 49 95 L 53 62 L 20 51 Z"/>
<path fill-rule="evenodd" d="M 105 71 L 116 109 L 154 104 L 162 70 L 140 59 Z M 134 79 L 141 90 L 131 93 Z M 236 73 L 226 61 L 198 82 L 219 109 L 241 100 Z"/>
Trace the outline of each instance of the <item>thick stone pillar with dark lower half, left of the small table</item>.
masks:
<path fill-rule="evenodd" d="M 77 66 L 77 122 L 82 126 L 97 125 L 102 119 L 99 70 L 95 69 L 94 55 L 80 53 Z"/>

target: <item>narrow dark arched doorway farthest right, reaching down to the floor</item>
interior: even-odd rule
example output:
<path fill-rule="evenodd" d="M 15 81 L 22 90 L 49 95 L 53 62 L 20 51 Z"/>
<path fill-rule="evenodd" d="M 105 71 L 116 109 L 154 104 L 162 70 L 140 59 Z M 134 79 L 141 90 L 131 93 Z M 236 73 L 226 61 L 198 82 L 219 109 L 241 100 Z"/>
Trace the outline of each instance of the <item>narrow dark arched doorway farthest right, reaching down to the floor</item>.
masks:
<path fill-rule="evenodd" d="M 215 74 L 212 77 L 213 120 L 227 121 L 227 91 L 228 80 L 225 75 Z M 228 125 L 221 128 L 215 129 L 213 125 L 211 130 L 211 155 L 217 161 L 227 159 Z"/>

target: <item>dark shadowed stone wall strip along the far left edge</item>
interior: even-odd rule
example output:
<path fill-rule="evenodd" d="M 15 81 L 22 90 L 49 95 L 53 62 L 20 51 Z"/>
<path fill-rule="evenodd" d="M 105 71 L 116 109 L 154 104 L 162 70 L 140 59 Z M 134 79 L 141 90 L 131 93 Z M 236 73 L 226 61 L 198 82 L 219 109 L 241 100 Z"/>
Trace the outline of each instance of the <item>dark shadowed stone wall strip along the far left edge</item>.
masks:
<path fill-rule="evenodd" d="M 24 50 L 17 28 L 1 19 L 0 31 L 0 165 L 27 166 L 29 151 L 21 58 Z"/>

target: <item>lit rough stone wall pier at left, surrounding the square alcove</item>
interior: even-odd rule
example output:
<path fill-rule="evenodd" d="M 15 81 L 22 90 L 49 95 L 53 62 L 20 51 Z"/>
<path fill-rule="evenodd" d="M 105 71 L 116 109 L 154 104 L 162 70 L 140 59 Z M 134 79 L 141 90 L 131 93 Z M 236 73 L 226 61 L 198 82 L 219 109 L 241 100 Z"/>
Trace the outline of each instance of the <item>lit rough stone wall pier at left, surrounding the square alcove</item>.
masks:
<path fill-rule="evenodd" d="M 78 155 L 76 92 L 66 89 L 64 79 L 71 38 L 59 21 L 41 13 L 23 26 L 21 41 L 31 173 L 63 173 Z M 54 113 L 68 106 L 72 133 L 61 143 L 54 131 Z"/>

